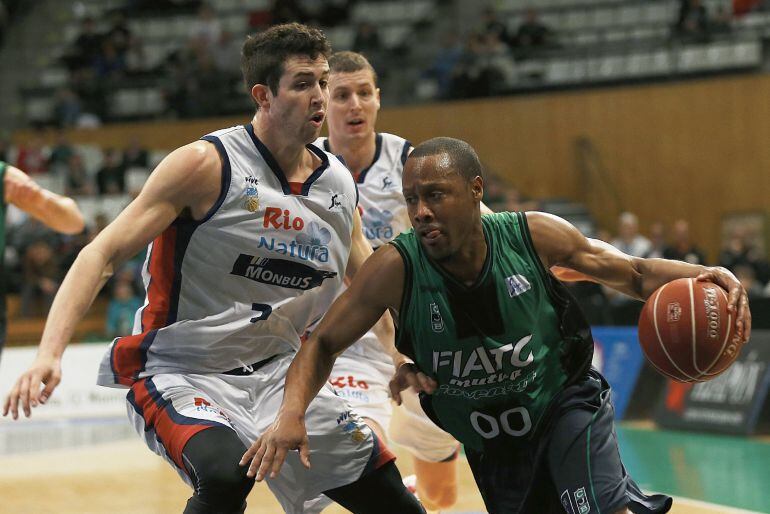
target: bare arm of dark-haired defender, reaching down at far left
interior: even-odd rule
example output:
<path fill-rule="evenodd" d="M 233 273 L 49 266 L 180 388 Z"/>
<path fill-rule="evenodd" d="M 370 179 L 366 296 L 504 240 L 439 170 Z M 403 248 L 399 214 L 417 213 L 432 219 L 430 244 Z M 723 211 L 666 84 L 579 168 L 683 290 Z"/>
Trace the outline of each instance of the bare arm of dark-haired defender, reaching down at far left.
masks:
<path fill-rule="evenodd" d="M 220 170 L 219 156 L 209 143 L 196 142 L 174 151 L 158 165 L 139 196 L 80 252 L 51 306 L 35 361 L 5 399 L 4 416 L 10 412 L 17 419 L 21 403 L 29 417 L 31 407 L 48 400 L 61 380 L 62 353 L 113 270 L 183 210 L 202 218 L 219 194 Z"/>

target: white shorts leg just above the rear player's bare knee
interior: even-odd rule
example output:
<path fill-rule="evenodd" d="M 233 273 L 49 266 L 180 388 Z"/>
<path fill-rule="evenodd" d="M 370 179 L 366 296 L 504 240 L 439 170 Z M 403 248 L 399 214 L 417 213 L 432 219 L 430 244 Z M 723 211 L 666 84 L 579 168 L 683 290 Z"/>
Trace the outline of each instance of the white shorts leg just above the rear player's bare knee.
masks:
<path fill-rule="evenodd" d="M 412 389 L 401 391 L 401 406 L 393 410 L 388 437 L 420 460 L 442 462 L 457 454 L 459 443 L 428 418 Z"/>

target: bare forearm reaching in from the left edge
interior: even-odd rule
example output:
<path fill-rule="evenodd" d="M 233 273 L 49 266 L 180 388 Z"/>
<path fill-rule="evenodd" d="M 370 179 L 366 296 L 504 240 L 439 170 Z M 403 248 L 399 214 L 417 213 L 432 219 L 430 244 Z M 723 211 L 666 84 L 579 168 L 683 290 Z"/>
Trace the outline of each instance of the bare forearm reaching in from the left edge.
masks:
<path fill-rule="evenodd" d="M 3 186 L 6 203 L 15 205 L 44 225 L 64 234 L 83 231 L 83 215 L 72 198 L 40 187 L 19 168 L 7 166 Z"/>

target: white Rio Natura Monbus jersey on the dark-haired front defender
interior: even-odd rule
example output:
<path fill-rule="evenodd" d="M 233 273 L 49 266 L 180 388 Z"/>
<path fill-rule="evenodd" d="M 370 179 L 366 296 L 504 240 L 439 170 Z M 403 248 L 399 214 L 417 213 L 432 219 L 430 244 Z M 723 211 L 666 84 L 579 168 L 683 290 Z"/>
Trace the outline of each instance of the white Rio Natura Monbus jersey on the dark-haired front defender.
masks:
<path fill-rule="evenodd" d="M 347 265 L 357 191 L 339 159 L 290 184 L 251 124 L 202 138 L 222 159 L 222 189 L 201 221 L 178 218 L 149 246 L 147 298 L 133 335 L 113 341 L 98 383 L 216 373 L 299 348 Z"/>

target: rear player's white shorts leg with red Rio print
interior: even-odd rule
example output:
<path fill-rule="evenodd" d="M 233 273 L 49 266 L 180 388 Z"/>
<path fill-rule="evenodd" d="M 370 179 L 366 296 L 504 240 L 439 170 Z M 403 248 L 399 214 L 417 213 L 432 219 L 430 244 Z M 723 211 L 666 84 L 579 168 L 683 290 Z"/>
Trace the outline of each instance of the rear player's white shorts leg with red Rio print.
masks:
<path fill-rule="evenodd" d="M 343 353 L 334 362 L 329 383 L 356 414 L 375 421 L 382 430 L 387 430 L 393 412 L 388 390 L 393 373 L 390 363 L 364 360 Z"/>

